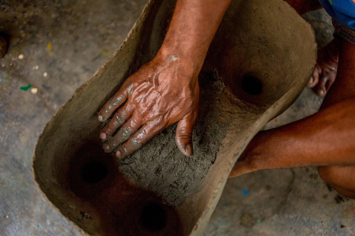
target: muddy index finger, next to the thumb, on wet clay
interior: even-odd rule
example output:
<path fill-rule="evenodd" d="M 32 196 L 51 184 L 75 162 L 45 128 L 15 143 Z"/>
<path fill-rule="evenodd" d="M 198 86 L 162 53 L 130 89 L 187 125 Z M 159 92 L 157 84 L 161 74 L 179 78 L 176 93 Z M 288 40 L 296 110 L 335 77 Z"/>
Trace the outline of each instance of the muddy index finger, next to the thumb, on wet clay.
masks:
<path fill-rule="evenodd" d="M 116 157 L 125 158 L 140 149 L 144 144 L 151 140 L 161 129 L 151 125 L 143 125 L 118 151 Z"/>

